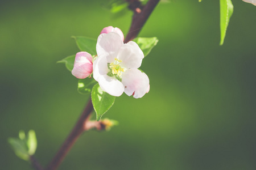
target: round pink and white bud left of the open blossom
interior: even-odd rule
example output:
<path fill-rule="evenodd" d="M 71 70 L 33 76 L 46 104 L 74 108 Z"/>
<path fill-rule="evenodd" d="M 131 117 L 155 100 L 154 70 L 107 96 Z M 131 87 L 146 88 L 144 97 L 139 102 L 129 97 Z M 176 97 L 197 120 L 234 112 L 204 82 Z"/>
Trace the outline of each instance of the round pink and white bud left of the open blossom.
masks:
<path fill-rule="evenodd" d="M 92 55 L 87 52 L 76 53 L 75 63 L 72 74 L 79 79 L 84 79 L 92 74 L 93 63 Z"/>

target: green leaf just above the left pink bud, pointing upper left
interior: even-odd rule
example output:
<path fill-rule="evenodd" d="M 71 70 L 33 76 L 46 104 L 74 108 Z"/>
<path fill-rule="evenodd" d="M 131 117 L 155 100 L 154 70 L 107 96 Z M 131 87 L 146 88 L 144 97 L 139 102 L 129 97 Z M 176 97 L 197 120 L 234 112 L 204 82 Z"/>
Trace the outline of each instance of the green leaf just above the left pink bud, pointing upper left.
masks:
<path fill-rule="evenodd" d="M 76 44 L 81 52 L 88 52 L 91 55 L 97 55 L 96 52 L 96 39 L 91 39 L 83 36 L 72 36 L 76 40 Z"/>

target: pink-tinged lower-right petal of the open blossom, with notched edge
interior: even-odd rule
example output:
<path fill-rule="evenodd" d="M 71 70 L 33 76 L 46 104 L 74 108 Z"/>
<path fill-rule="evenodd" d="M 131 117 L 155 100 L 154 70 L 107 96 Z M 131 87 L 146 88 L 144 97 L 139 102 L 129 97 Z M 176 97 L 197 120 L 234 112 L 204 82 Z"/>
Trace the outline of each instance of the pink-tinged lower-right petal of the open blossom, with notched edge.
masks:
<path fill-rule="evenodd" d="M 126 95 L 133 95 L 136 99 L 143 97 L 149 87 L 148 76 L 138 69 L 129 69 L 125 71 L 122 75 L 122 83 L 125 87 Z"/>

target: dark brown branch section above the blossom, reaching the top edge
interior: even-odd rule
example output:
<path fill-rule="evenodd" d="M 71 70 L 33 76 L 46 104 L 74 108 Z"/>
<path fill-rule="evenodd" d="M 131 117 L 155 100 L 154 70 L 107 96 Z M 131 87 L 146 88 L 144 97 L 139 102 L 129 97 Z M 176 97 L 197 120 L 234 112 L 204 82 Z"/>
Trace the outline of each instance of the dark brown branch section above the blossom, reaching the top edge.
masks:
<path fill-rule="evenodd" d="M 131 22 L 131 27 L 124 41 L 125 43 L 137 37 L 139 31 L 141 31 L 144 23 L 146 23 L 148 17 L 150 16 L 151 12 L 154 10 L 159 1 L 160 0 L 149 0 L 143 8 L 139 8 L 141 9 L 141 11 L 135 10 L 133 20 Z"/>

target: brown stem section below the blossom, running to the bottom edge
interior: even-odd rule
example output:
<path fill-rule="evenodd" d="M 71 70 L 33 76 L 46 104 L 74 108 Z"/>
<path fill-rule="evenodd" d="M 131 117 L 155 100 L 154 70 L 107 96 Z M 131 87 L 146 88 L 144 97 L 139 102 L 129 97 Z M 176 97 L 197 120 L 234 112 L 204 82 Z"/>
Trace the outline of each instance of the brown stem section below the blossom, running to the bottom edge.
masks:
<path fill-rule="evenodd" d="M 60 147 L 59 151 L 55 155 L 55 157 L 52 159 L 52 162 L 48 165 L 47 170 L 55 170 L 57 167 L 59 167 L 60 163 L 63 161 L 65 156 L 68 154 L 68 151 L 71 149 L 71 147 L 75 144 L 76 140 L 79 138 L 79 136 L 82 134 L 82 132 L 86 129 L 86 123 L 89 121 L 90 113 L 93 111 L 93 105 L 92 100 L 90 99 L 88 101 L 88 104 L 86 105 L 84 112 L 82 112 L 81 117 L 77 121 L 77 124 L 69 134 L 66 141 L 63 143 L 63 145 Z"/>

